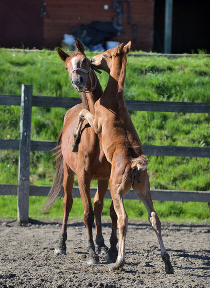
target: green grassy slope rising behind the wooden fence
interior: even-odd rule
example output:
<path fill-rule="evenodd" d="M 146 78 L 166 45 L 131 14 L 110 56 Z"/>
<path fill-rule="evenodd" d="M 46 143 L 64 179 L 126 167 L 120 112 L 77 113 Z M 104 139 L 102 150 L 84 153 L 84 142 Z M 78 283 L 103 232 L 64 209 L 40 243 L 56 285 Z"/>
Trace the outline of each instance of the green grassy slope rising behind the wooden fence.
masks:
<path fill-rule="evenodd" d="M 87 56 L 91 58 L 93 53 L 89 52 Z M 107 74 L 103 72 L 101 75 L 98 74 L 98 77 L 105 88 Z M 20 95 L 22 83 L 33 84 L 33 95 L 79 97 L 71 85 L 68 73 L 57 52 L 28 53 L 0 49 L 0 94 Z M 204 55 L 176 59 L 158 56 L 140 58 L 129 56 L 124 97 L 135 100 L 210 102 L 210 58 Z M 66 111 L 65 108 L 33 107 L 31 139 L 56 141 Z M 0 139 L 19 139 L 19 117 L 20 107 L 0 105 Z M 131 118 L 143 144 L 210 146 L 210 116 L 208 114 L 132 111 Z M 210 190 L 208 158 L 148 156 L 148 159 L 148 173 L 153 189 Z M 55 177 L 52 153 L 32 151 L 30 161 L 30 184 L 52 185 Z M 18 152 L 0 150 L 0 184 L 17 184 L 17 175 Z M 78 185 L 77 177 L 75 185 Z M 92 186 L 96 185 L 97 181 L 93 181 Z M 12 197 L 0 196 L 0 206 L 3 207 L 3 201 L 6 207 L 8 203 L 13 203 L 13 200 L 9 199 Z M 30 203 L 30 217 L 33 215 L 43 217 L 38 212 L 37 214 L 32 212 L 33 209 L 38 211 L 36 206 L 39 207 L 38 203 L 43 199 L 35 197 L 34 204 Z M 108 203 L 108 200 L 106 201 Z M 140 204 L 137 203 L 139 202 L 134 201 L 128 216 L 132 218 L 137 215 L 147 218 L 146 212 L 142 214 L 145 209 L 140 208 Z M 200 208 L 206 213 L 205 209 L 208 209 L 208 205 L 204 203 L 172 203 L 156 203 L 158 209 L 162 207 L 161 209 L 165 210 L 163 214 L 161 210 L 160 214 L 166 219 L 170 218 L 170 214 L 172 214 L 171 217 L 175 217 L 173 211 L 180 211 L 181 219 L 185 219 L 185 217 L 190 217 L 188 210 L 197 211 Z M 57 205 L 55 204 L 52 209 L 56 211 Z M 168 209 L 163 208 L 164 205 Z M 58 206 L 59 213 L 62 215 L 61 205 Z M 81 216 L 83 208 L 82 205 L 80 206 L 81 209 L 76 208 L 76 211 L 79 209 Z M 183 208 L 180 209 L 180 207 Z M 9 211 L 15 209 L 15 206 L 13 209 L 8 209 L 8 216 Z M 104 211 L 107 209 L 105 206 Z M 2 211 L 0 209 L 0 216 L 6 216 L 7 214 Z M 57 217 L 55 211 L 46 216 Z M 208 218 L 210 211 L 209 214 L 205 213 L 201 212 L 204 217 L 196 216 L 196 213 L 191 217 Z M 74 216 L 74 212 L 71 215 Z"/>

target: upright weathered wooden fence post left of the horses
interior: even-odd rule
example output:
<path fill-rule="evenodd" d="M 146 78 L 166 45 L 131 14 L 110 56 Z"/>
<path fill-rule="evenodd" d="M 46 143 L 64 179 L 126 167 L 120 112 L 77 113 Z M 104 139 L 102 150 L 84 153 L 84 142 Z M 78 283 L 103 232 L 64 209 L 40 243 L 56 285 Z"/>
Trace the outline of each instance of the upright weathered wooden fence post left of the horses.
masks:
<path fill-rule="evenodd" d="M 28 222 L 32 85 L 22 84 L 17 189 L 17 221 Z"/>

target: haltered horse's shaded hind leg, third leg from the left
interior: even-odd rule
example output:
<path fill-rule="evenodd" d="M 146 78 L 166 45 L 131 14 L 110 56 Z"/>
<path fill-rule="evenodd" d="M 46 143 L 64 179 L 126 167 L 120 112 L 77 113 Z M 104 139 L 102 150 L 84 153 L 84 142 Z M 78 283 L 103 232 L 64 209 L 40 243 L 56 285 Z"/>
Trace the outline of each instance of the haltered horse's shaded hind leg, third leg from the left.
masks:
<path fill-rule="evenodd" d="M 102 234 L 102 210 L 104 207 L 104 197 L 108 188 L 108 179 L 98 180 L 98 190 L 94 197 L 94 213 L 96 217 L 96 243 L 98 254 L 107 254 L 108 247 Z"/>

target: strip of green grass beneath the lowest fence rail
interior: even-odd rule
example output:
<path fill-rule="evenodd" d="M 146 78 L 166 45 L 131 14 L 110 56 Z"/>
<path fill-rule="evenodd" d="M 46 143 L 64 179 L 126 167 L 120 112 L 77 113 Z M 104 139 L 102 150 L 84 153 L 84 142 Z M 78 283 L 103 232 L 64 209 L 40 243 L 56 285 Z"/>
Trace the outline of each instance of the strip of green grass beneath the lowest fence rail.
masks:
<path fill-rule="evenodd" d="M 42 214 L 42 206 L 46 197 L 30 196 L 29 218 L 31 219 L 63 219 L 62 201 L 57 200 L 46 214 Z M 16 219 L 17 197 L 0 196 L 0 218 Z M 102 217 L 110 219 L 110 199 L 105 199 Z M 137 200 L 124 200 L 124 206 L 129 219 L 148 220 L 148 213 L 144 205 Z M 154 201 L 154 208 L 161 221 L 210 221 L 210 206 L 208 203 Z M 82 200 L 74 198 L 69 219 L 83 218 Z M 110 220 L 111 221 L 111 220 Z"/>

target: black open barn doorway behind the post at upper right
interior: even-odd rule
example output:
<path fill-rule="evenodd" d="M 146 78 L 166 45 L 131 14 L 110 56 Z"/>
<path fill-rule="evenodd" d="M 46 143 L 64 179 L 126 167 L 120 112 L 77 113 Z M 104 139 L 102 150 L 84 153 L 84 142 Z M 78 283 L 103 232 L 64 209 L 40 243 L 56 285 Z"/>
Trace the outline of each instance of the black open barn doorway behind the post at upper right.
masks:
<path fill-rule="evenodd" d="M 210 53 L 210 1 L 174 0 L 172 53 Z M 155 0 L 154 51 L 164 51 L 165 0 Z"/>

